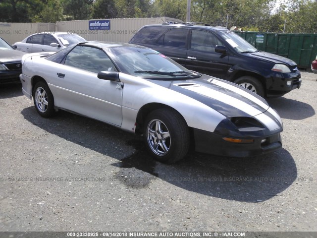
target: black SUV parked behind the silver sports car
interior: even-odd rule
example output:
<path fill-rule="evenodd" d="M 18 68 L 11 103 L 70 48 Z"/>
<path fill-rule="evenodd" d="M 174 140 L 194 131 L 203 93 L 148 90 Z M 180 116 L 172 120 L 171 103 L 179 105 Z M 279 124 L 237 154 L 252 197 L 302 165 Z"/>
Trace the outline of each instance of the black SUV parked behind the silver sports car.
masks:
<path fill-rule="evenodd" d="M 282 96 L 302 82 L 294 61 L 258 51 L 222 27 L 147 25 L 129 43 L 153 48 L 188 69 L 229 80 L 263 97 Z"/>

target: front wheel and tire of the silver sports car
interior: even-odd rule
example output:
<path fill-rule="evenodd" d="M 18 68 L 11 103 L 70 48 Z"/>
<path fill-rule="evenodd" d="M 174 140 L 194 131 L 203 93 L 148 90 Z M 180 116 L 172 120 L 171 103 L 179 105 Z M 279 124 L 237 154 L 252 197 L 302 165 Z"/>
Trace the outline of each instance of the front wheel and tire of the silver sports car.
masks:
<path fill-rule="evenodd" d="M 187 123 L 172 109 L 151 112 L 145 119 L 143 137 L 148 151 L 160 162 L 170 164 L 179 161 L 189 149 Z"/>

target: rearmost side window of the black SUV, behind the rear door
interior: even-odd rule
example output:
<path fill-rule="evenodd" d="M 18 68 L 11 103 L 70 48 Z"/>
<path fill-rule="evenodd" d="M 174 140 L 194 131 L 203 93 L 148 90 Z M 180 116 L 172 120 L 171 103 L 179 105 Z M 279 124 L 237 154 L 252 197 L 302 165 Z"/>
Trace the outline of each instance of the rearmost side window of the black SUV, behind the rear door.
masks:
<path fill-rule="evenodd" d="M 154 44 L 166 30 L 166 27 L 161 26 L 144 27 L 131 39 L 131 43 Z"/>

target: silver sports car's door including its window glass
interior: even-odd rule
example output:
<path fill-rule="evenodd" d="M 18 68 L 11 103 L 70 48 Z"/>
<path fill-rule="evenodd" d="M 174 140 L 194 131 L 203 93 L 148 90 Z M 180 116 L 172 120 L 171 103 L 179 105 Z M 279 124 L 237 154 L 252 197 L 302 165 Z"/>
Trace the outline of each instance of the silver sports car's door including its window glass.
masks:
<path fill-rule="evenodd" d="M 121 82 L 97 77 L 100 71 L 116 71 L 105 52 L 79 45 L 59 65 L 50 85 L 56 107 L 121 126 Z"/>

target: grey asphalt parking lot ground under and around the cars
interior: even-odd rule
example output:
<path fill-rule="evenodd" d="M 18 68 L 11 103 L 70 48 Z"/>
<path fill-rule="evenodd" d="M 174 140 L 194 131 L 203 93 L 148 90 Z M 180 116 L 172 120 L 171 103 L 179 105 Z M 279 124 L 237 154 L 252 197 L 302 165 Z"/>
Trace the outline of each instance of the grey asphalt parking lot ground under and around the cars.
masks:
<path fill-rule="evenodd" d="M 142 139 L 0 87 L 0 231 L 317 231 L 317 75 L 269 99 L 283 148 L 151 159 Z M 212 145 L 211 145 L 212 146 Z"/>

